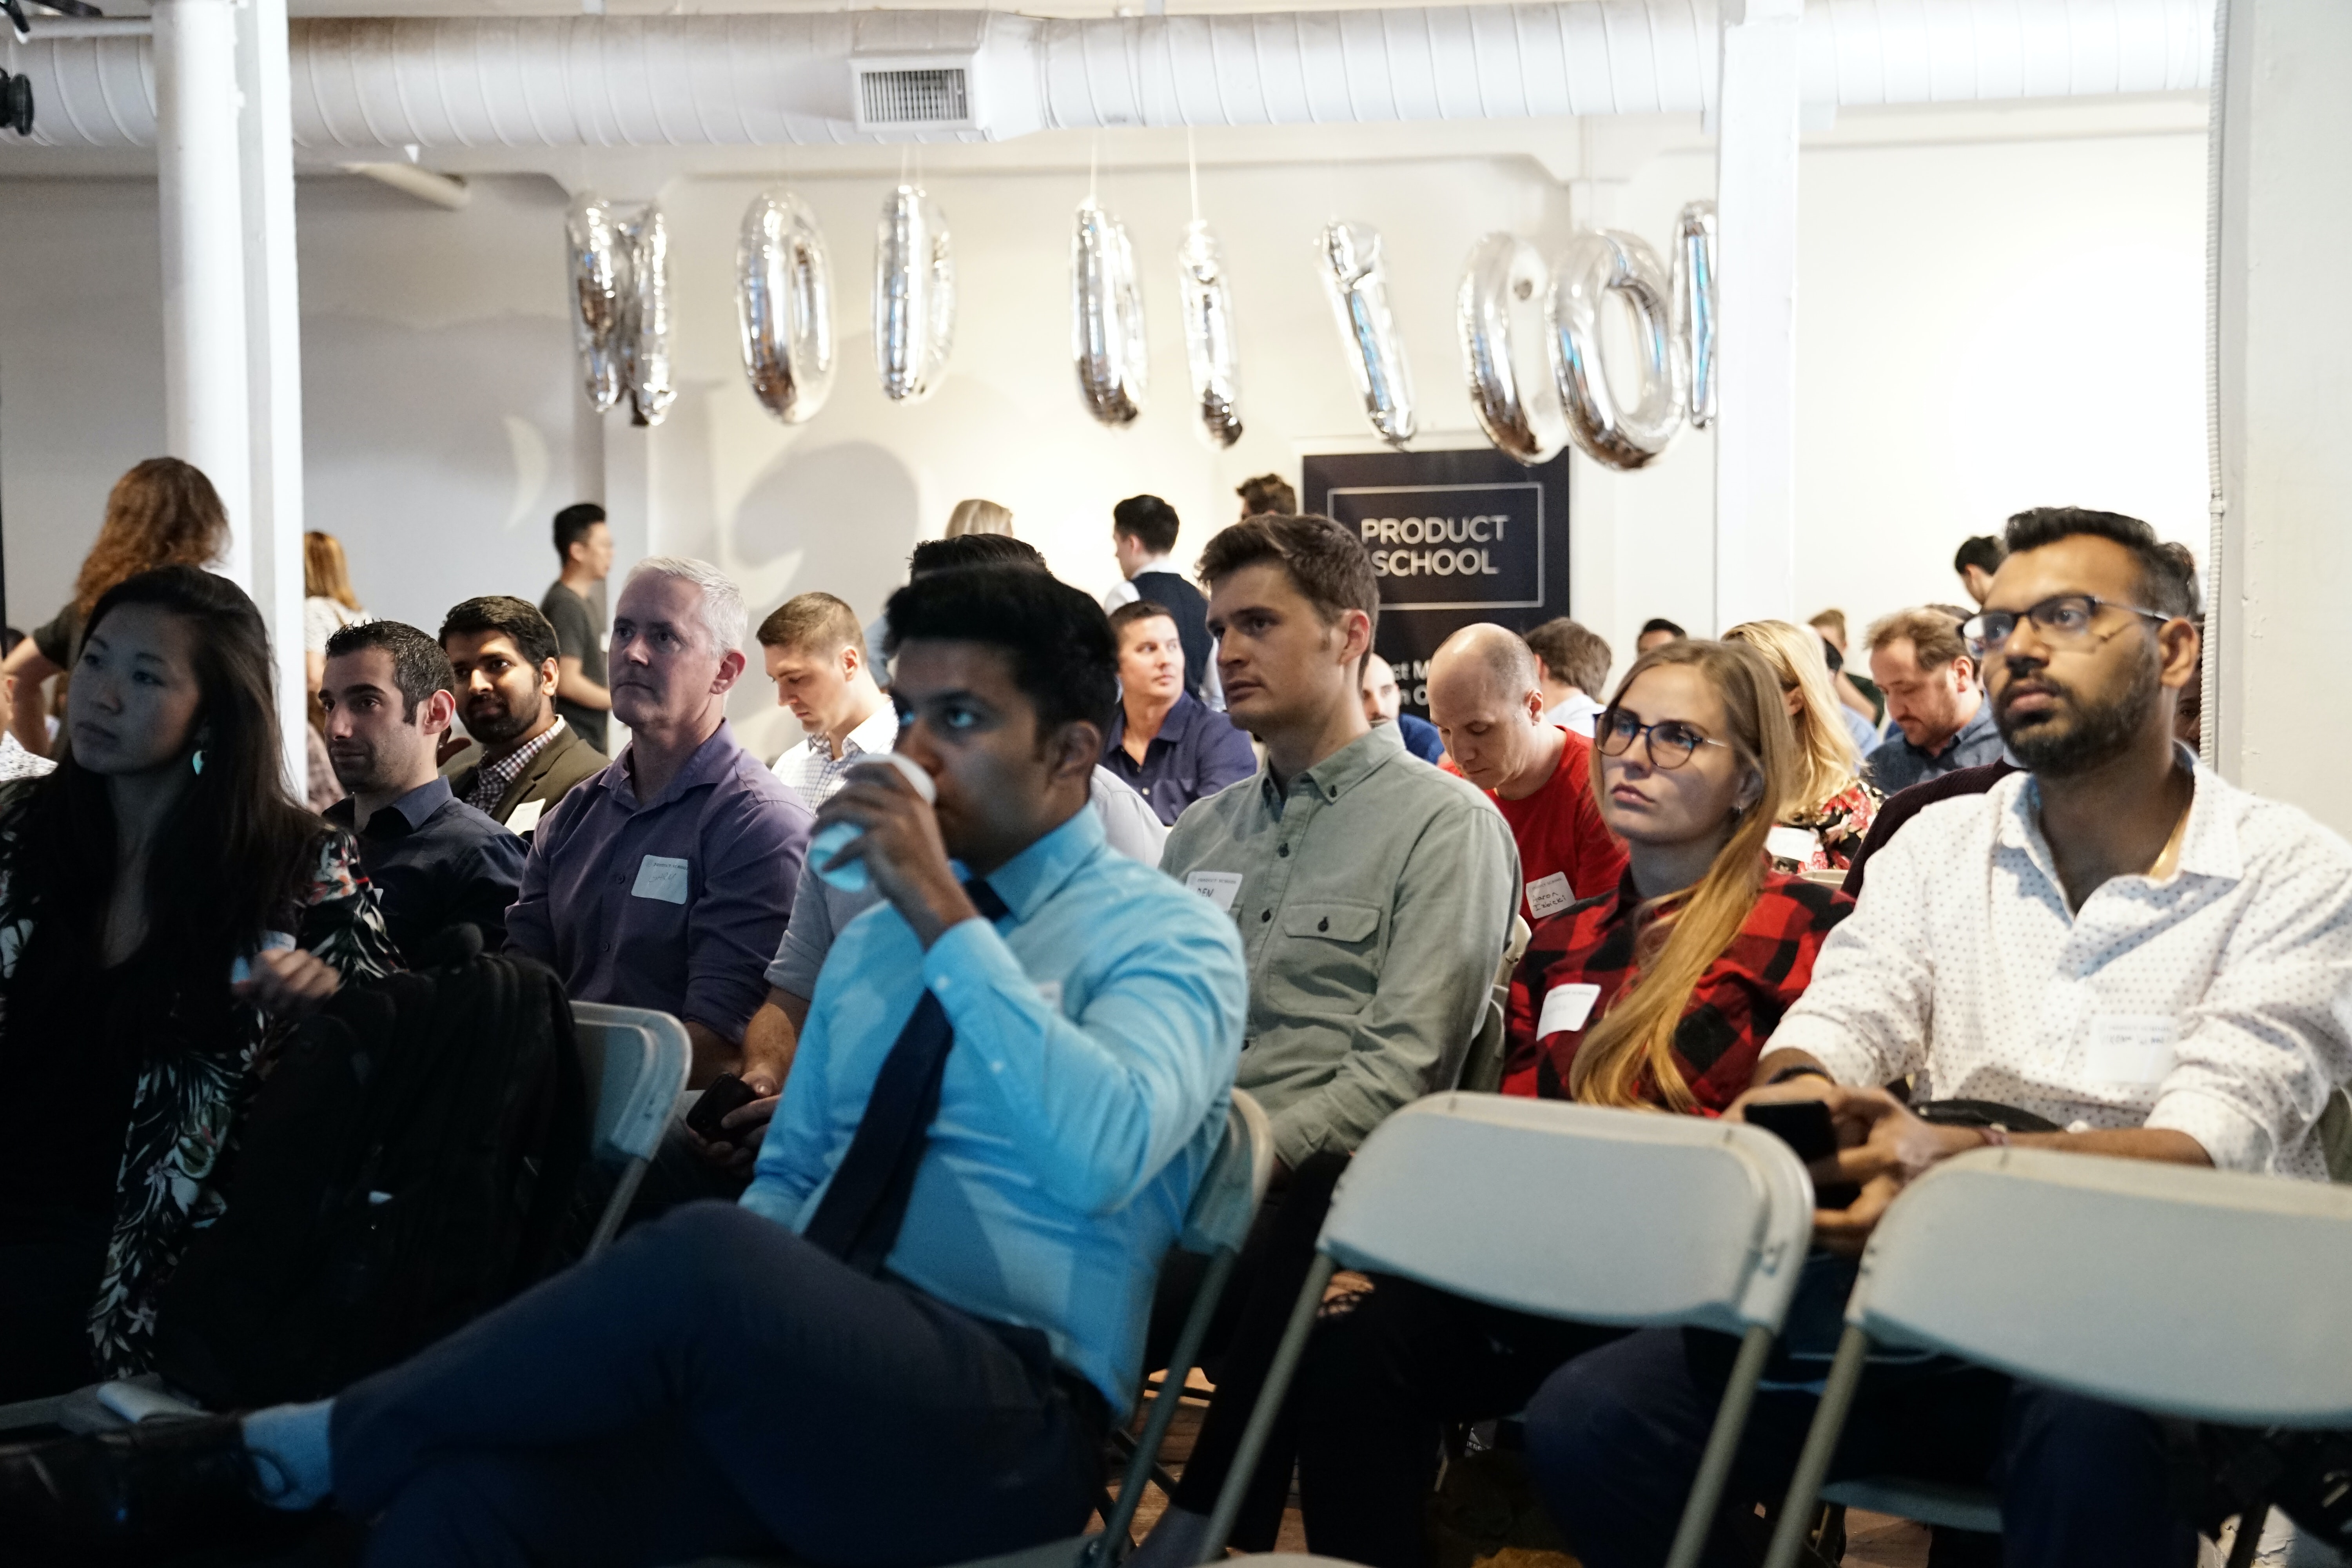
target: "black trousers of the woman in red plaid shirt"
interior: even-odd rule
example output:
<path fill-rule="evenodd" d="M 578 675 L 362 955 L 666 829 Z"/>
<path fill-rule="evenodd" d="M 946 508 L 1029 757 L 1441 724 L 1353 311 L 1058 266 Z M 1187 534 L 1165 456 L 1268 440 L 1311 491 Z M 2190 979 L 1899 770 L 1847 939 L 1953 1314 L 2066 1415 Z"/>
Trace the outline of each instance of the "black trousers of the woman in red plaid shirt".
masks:
<path fill-rule="evenodd" d="M 1524 1410 L 1552 1371 L 1621 1333 L 1376 1276 L 1355 1307 L 1315 1326 L 1298 1368 L 1308 1549 L 1421 1568 L 1444 1427 Z"/>

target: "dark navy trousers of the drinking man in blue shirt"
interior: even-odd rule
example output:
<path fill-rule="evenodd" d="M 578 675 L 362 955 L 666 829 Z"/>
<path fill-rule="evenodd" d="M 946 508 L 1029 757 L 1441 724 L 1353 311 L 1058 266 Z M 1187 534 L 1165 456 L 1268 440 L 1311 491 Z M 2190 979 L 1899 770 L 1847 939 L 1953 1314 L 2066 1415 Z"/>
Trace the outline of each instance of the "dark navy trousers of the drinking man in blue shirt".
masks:
<path fill-rule="evenodd" d="M 334 1403 L 369 1563 L 955 1563 L 1075 1535 L 1103 1401 L 1044 1335 L 689 1204 Z"/>

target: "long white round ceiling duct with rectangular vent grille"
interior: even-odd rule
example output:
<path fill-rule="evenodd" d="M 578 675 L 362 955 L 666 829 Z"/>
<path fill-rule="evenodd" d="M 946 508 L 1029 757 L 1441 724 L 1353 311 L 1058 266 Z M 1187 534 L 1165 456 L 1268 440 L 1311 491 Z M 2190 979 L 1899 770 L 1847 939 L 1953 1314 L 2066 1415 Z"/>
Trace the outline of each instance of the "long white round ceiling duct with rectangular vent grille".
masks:
<path fill-rule="evenodd" d="M 1806 101 L 2187 92 L 2213 0 L 1811 0 Z M 489 146 L 774 146 L 1056 127 L 1698 113 L 1712 0 L 1108 16 L 310 19 L 294 141 L 315 155 Z M 148 40 L 7 49 L 52 146 L 151 146 Z"/>

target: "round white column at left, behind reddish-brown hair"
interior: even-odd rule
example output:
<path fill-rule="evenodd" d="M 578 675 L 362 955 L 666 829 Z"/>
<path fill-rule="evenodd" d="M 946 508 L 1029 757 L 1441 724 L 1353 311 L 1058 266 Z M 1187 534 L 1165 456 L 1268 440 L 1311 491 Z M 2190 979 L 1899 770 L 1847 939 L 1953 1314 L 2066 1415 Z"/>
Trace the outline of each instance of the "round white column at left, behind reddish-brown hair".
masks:
<path fill-rule="evenodd" d="M 252 585 L 252 409 L 233 0 L 155 0 L 155 179 L 162 207 L 165 447 L 228 508 L 221 571 Z"/>

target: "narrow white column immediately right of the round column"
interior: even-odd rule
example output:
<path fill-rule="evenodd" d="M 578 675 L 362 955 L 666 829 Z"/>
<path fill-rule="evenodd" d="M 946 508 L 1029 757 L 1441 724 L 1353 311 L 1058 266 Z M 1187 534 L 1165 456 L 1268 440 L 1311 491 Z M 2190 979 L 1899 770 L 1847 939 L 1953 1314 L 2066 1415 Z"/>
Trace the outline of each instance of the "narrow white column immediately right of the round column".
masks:
<path fill-rule="evenodd" d="M 278 656 L 278 729 L 287 778 L 308 776 L 303 741 L 301 292 L 294 263 L 294 127 L 285 0 L 238 5 L 238 186 L 245 230 L 245 367 L 252 421 L 247 585 Z M 299 790 L 296 790 L 299 795 Z"/>

